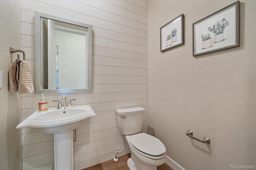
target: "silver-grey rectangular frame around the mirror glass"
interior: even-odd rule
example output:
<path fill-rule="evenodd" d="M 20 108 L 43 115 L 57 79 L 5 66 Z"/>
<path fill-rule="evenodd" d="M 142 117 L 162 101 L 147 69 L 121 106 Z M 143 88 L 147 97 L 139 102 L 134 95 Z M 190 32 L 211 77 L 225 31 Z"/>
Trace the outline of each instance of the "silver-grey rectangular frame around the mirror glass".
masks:
<path fill-rule="evenodd" d="M 88 28 L 88 88 L 86 89 L 40 89 L 40 19 L 48 18 L 74 25 Z M 87 93 L 92 92 L 92 25 L 78 21 L 68 20 L 49 14 L 35 11 L 35 94 L 54 94 L 54 93 Z"/>

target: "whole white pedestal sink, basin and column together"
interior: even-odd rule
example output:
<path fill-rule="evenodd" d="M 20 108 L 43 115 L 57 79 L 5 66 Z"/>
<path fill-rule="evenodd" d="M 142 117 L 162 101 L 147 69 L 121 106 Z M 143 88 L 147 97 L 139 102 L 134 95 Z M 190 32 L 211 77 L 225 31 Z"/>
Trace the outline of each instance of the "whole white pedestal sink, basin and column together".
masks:
<path fill-rule="evenodd" d="M 16 128 L 34 127 L 44 133 L 54 134 L 55 170 L 73 170 L 73 129 L 82 125 L 96 114 L 88 105 L 73 106 L 68 109 L 51 108 L 35 111 Z"/>

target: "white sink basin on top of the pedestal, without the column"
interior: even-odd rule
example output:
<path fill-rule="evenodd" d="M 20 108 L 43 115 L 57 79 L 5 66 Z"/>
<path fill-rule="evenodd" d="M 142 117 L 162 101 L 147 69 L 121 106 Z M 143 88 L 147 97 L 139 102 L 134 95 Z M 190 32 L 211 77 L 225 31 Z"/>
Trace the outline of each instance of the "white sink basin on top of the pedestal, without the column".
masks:
<path fill-rule="evenodd" d="M 50 108 L 48 111 L 35 111 L 16 128 L 34 127 L 44 133 L 65 133 L 76 129 L 89 117 L 96 114 L 88 105 L 73 106 L 68 109 Z"/>

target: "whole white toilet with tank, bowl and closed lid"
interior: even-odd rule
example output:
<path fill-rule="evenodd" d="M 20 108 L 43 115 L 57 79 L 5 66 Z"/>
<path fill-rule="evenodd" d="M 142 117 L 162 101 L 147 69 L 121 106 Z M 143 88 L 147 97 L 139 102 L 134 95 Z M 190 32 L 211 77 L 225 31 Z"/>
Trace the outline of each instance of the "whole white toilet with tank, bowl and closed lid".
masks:
<path fill-rule="evenodd" d="M 144 108 L 131 107 L 116 109 L 117 124 L 131 151 L 127 165 L 130 170 L 156 170 L 166 161 L 164 144 L 151 135 L 140 133 Z"/>

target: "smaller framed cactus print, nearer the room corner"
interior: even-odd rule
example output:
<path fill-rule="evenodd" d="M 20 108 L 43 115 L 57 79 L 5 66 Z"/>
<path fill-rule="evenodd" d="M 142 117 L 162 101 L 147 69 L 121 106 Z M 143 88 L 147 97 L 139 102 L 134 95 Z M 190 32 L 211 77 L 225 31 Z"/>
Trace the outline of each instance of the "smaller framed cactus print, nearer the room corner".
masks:
<path fill-rule="evenodd" d="M 160 28 L 160 51 L 184 44 L 184 14 Z"/>

